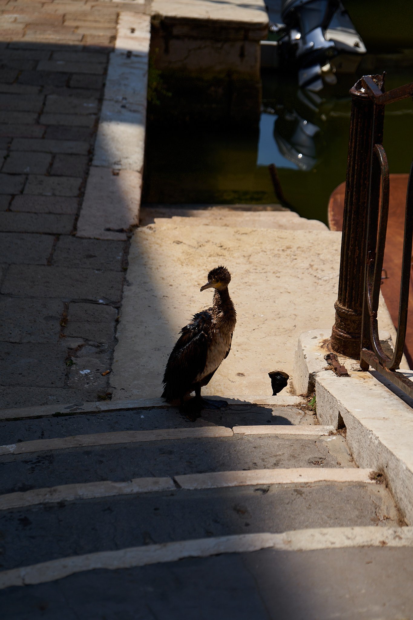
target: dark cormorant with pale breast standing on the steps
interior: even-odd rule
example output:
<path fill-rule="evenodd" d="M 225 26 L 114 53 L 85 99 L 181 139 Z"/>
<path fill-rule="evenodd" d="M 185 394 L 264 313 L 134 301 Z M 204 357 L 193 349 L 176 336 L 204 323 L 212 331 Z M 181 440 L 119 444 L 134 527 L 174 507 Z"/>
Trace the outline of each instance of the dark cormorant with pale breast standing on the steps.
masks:
<path fill-rule="evenodd" d="M 214 288 L 212 308 L 194 314 L 192 321 L 181 329 L 181 336 L 169 356 L 163 376 L 162 397 L 168 402 L 180 401 L 181 409 L 198 414 L 201 409 L 225 406 L 225 401 L 206 401 L 201 387 L 211 381 L 215 370 L 231 349 L 232 334 L 237 322 L 235 308 L 228 293 L 231 275 L 226 267 L 215 267 L 208 273 L 207 284 Z M 184 405 L 184 397 L 195 392 Z"/>

